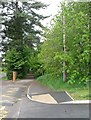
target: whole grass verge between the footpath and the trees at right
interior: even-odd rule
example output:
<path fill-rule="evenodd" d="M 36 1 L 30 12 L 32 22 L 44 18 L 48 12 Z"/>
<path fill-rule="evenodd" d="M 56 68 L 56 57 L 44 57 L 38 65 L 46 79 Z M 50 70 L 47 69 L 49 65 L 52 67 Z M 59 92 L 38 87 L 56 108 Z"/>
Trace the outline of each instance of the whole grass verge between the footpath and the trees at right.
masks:
<path fill-rule="evenodd" d="M 37 80 L 55 91 L 67 91 L 75 100 L 91 99 L 88 85 L 78 85 L 77 83 L 70 85 L 68 83 L 64 83 L 61 77 L 57 77 L 53 74 L 40 76 L 37 78 Z"/>

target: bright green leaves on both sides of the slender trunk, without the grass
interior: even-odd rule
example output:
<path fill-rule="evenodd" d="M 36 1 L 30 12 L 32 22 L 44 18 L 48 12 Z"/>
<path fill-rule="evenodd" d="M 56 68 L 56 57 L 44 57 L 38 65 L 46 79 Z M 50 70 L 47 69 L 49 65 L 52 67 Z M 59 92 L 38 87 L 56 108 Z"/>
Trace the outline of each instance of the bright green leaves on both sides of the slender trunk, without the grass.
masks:
<path fill-rule="evenodd" d="M 89 3 L 70 2 L 61 4 L 61 11 L 54 18 L 54 25 L 45 33 L 39 58 L 46 73 L 63 73 L 63 62 L 69 84 L 86 84 L 89 80 Z M 63 24 L 63 16 L 65 24 Z M 63 47 L 63 31 L 65 46 Z M 91 74 L 90 74 L 91 75 Z"/>

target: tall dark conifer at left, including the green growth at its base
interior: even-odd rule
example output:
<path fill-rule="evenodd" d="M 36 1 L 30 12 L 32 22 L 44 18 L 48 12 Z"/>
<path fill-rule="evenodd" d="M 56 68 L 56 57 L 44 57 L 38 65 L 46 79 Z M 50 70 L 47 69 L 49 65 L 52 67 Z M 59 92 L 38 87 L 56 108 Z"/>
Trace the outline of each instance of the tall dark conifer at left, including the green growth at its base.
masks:
<path fill-rule="evenodd" d="M 1 2 L 3 19 L 1 24 L 4 26 L 1 31 L 3 33 L 2 50 L 5 52 L 7 72 L 16 70 L 20 73 L 21 70 L 26 71 L 26 66 L 29 69 L 30 66 L 26 65 L 29 61 L 27 55 L 34 54 L 35 46 L 36 49 L 38 48 L 44 28 L 41 20 L 46 18 L 38 14 L 36 10 L 45 7 L 46 5 L 43 3 L 32 0 L 28 2 Z"/>

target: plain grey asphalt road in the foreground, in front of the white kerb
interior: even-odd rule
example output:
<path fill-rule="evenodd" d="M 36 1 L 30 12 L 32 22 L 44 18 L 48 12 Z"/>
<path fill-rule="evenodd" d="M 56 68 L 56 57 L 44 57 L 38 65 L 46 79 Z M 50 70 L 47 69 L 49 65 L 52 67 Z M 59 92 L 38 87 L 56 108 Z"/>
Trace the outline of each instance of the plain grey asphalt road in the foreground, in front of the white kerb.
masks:
<path fill-rule="evenodd" d="M 23 104 L 19 118 L 89 118 L 89 105 L 43 104 L 26 98 Z"/>

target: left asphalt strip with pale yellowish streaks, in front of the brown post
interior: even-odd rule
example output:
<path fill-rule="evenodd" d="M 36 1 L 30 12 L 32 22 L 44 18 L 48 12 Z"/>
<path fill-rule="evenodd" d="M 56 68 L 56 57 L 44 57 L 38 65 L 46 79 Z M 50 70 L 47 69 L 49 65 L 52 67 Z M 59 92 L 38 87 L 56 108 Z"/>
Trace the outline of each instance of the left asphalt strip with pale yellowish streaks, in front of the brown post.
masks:
<path fill-rule="evenodd" d="M 6 117 L 8 114 L 12 116 L 14 112 L 11 109 L 15 105 L 18 108 L 16 112 L 19 111 L 20 106 L 18 106 L 18 102 L 22 101 L 22 97 L 26 95 L 29 84 L 30 80 L 20 80 L 16 82 L 10 80 L 0 83 L 0 119 Z"/>

